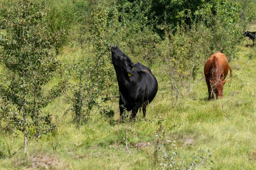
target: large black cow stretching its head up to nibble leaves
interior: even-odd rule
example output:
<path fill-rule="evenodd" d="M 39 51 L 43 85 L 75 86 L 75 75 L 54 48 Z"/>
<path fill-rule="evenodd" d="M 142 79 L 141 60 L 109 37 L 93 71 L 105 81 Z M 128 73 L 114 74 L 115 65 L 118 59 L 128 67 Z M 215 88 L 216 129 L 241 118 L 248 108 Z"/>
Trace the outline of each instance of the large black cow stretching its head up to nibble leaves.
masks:
<path fill-rule="evenodd" d="M 116 45 L 111 48 L 111 57 L 119 86 L 120 118 L 124 108 L 132 110 L 130 119 L 135 118 L 141 107 L 146 116 L 146 107 L 157 94 L 157 79 L 148 67 L 140 62 L 134 64 Z"/>

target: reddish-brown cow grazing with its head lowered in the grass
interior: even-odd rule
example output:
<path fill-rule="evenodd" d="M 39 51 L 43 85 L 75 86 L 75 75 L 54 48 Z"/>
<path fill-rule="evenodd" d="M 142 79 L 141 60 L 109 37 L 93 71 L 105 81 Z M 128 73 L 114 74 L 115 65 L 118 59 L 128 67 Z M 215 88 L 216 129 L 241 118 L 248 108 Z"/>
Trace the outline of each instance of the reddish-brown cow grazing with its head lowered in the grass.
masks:
<path fill-rule="evenodd" d="M 228 68 L 230 69 L 229 79 L 231 79 L 232 69 L 228 64 L 227 57 L 219 51 L 207 59 L 204 65 L 204 76 L 208 87 L 209 99 L 213 99 L 214 95 L 220 99 L 223 97 L 224 84 L 227 82 L 224 79 L 227 77 Z"/>

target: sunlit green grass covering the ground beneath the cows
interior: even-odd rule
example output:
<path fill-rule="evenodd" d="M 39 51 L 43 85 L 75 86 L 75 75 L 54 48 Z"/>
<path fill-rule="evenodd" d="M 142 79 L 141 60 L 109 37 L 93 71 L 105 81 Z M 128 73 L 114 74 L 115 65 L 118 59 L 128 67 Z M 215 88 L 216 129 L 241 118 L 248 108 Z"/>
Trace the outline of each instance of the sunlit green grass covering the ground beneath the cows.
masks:
<path fill-rule="evenodd" d="M 254 54 L 253 48 L 239 48 L 239 59 L 230 61 L 233 79 L 224 87 L 224 98 L 208 101 L 207 85 L 198 83 L 188 96 L 182 96 L 176 107 L 172 107 L 168 95 L 157 94 L 148 106 L 146 119 L 138 113 L 135 122 L 128 122 L 128 147 L 136 160 L 126 150 L 126 124 L 119 123 L 118 101 L 113 104 L 113 120 L 93 116 L 87 124 L 76 127 L 72 124 L 72 115 L 68 114 L 54 134 L 45 135 L 38 142 L 33 152 L 33 142 L 29 142 L 29 154 L 21 150 L 21 133 L 16 138 L 4 131 L 0 133 L 0 169 L 156 169 L 163 161 L 154 162 L 155 130 L 158 118 L 166 119 L 166 127 L 180 125 L 166 130 L 165 145 L 167 153 L 177 152 L 177 161 L 191 162 L 198 150 L 209 150 L 209 158 L 214 163 L 209 166 L 216 170 L 256 169 L 256 59 L 248 58 Z M 61 59 L 68 60 L 78 54 L 74 49 L 64 50 Z M 255 55 L 254 55 L 255 57 Z M 156 77 L 160 77 L 154 68 Z M 160 72 L 160 71 L 159 71 Z M 158 75 L 157 75 L 158 74 Z M 160 82 L 160 80 L 158 79 Z M 50 83 L 52 86 L 54 81 Z M 161 82 L 160 82 L 161 88 Z M 61 116 L 69 105 L 64 96 L 52 102 L 45 111 Z M 184 145 L 186 139 L 193 139 L 195 144 Z M 175 141 L 175 143 L 173 143 Z M 150 143 L 138 148 L 137 143 Z M 174 146 L 175 144 L 176 146 Z M 46 159 L 47 156 L 49 159 Z M 44 159 L 43 159 L 44 158 Z M 33 161 L 36 160 L 36 161 Z M 35 162 L 42 162 L 37 165 Z M 201 167 L 203 168 L 203 167 Z M 207 167 L 206 169 L 209 169 Z"/>

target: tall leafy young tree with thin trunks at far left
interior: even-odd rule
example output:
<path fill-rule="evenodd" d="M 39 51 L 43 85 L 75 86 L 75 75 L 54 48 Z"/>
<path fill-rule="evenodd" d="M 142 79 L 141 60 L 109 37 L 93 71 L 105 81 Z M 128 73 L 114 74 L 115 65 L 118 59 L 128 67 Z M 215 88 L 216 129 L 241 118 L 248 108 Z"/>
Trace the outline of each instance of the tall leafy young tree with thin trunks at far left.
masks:
<path fill-rule="evenodd" d="M 35 137 L 36 145 L 41 135 L 55 130 L 56 124 L 42 108 L 65 90 L 67 82 L 64 78 L 51 90 L 44 89 L 60 68 L 52 48 L 65 34 L 64 30 L 49 31 L 46 17 L 44 1 L 19 0 L 7 12 L 6 34 L 0 34 L 1 64 L 11 74 L 9 83 L 0 86 L 0 96 L 15 106 L 9 124 L 23 132 L 24 153 L 28 138 Z"/>

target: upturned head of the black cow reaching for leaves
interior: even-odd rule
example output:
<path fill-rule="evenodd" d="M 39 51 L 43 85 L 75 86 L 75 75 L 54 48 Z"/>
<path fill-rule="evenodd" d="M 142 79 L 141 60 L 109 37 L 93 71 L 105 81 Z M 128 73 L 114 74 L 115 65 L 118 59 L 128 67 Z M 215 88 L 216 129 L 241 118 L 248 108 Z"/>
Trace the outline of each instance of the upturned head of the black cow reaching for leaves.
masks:
<path fill-rule="evenodd" d="M 134 74 L 134 63 L 116 45 L 111 48 L 111 57 L 116 71 L 124 71 L 128 76 Z"/>

